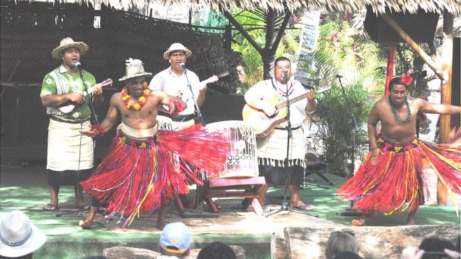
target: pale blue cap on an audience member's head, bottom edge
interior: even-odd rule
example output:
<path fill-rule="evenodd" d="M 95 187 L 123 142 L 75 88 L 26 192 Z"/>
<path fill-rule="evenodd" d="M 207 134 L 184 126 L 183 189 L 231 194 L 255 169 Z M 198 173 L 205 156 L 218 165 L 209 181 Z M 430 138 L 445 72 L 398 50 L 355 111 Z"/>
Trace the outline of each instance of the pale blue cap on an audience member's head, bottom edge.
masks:
<path fill-rule="evenodd" d="M 184 223 L 169 223 L 161 232 L 159 244 L 168 253 L 185 253 L 191 247 L 191 231 Z"/>

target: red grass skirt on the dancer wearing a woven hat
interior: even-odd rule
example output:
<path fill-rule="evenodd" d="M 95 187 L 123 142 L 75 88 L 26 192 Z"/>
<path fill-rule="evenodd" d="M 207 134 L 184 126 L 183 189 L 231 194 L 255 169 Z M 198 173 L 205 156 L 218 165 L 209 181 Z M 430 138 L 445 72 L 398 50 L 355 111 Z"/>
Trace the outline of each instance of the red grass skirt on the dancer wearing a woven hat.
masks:
<path fill-rule="evenodd" d="M 150 140 L 130 140 L 119 132 L 94 174 L 81 183 L 83 191 L 100 202 L 105 212 L 128 216 L 153 212 L 176 193 L 189 193 L 191 181 L 203 184 L 199 172 L 224 170 L 228 141 L 208 133 L 200 124 L 180 131 L 157 131 Z"/>

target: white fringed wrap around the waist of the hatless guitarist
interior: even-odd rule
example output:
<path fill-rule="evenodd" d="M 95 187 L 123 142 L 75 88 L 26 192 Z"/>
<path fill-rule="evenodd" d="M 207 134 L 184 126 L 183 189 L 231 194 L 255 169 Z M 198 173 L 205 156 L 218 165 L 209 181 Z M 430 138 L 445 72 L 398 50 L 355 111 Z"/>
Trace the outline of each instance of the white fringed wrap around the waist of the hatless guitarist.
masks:
<path fill-rule="evenodd" d="M 305 168 L 306 146 L 304 129 L 301 127 L 292 131 L 292 133 L 293 138 L 290 140 L 288 165 L 300 165 L 302 168 Z M 258 146 L 258 163 L 260 165 L 284 167 L 287 135 L 288 131 L 275 128 L 267 137 L 256 140 L 256 145 Z"/>

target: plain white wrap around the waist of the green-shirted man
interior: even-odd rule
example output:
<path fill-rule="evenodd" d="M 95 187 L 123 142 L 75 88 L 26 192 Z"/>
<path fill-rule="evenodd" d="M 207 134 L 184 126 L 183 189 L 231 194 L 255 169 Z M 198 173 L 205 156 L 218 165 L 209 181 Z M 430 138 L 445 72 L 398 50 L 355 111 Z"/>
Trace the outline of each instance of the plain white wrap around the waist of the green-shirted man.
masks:
<path fill-rule="evenodd" d="M 80 134 L 89 131 L 89 126 L 89 120 L 80 126 L 50 119 L 46 168 L 59 172 L 93 168 L 93 139 Z"/>

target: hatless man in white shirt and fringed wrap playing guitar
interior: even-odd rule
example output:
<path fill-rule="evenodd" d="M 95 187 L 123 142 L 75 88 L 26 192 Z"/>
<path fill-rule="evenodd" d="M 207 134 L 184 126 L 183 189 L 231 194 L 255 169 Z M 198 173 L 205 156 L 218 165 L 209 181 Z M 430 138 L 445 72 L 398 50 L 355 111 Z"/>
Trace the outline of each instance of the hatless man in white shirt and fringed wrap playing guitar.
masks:
<path fill-rule="evenodd" d="M 288 84 L 288 92 L 286 90 Z M 278 112 L 275 103 L 269 103 L 274 96 L 281 96 L 283 100 L 288 95 L 289 99 L 302 96 L 301 101 L 290 106 L 290 121 L 293 137 L 290 141 L 290 154 L 286 165 L 287 122 L 282 122 L 264 138 L 258 138 L 258 164 L 259 175 L 265 177 L 265 182 L 258 190 L 261 205 L 264 204 L 265 193 L 270 184 L 284 185 L 286 182 L 286 166 L 291 171 L 288 189 L 291 192 L 291 206 L 298 209 L 312 209 L 310 205 L 300 200 L 299 187 L 302 183 L 305 168 L 305 135 L 302 124 L 306 114 L 316 109 L 315 91 L 307 91 L 300 82 L 291 78 L 291 62 L 286 57 L 275 60 L 274 77 L 258 82 L 245 94 L 245 101 L 255 110 L 264 112 L 272 117 Z"/>

